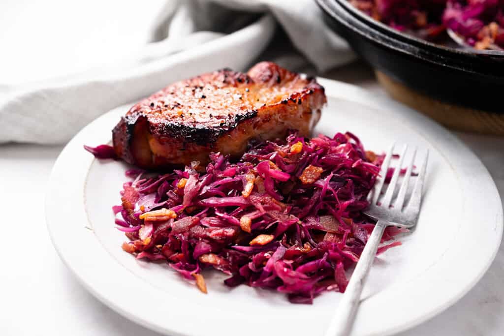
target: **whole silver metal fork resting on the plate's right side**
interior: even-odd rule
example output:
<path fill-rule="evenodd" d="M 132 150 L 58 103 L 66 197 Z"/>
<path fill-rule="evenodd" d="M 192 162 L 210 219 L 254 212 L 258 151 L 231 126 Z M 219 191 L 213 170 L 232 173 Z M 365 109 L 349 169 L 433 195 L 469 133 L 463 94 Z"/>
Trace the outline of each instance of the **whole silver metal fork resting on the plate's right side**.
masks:
<path fill-rule="evenodd" d="M 384 162 L 382 164 L 380 176 L 377 179 L 373 192 L 370 193 L 370 206 L 367 211 L 364 212 L 367 216 L 377 220 L 374 229 L 367 240 L 366 246 L 362 251 L 362 254 L 355 266 L 350 282 L 343 294 L 342 300 L 336 310 L 336 313 L 329 324 L 325 336 L 346 336 L 350 333 L 357 314 L 357 308 L 360 304 L 360 295 L 362 293 L 362 288 L 364 287 L 364 282 L 366 280 L 367 274 L 369 273 L 369 268 L 376 255 L 376 250 L 380 241 L 382 240 L 383 233 L 388 226 L 399 226 L 404 228 L 412 228 L 416 225 L 418 220 L 418 214 L 420 213 L 420 203 L 422 198 L 422 188 L 425 179 L 425 172 L 427 168 L 428 151 L 425 154 L 425 158 L 421 164 L 420 172 L 418 174 L 415 186 L 413 187 L 413 192 L 408 205 L 403 209 L 404 200 L 406 198 L 406 191 L 408 190 L 409 179 L 411 172 L 413 170 L 413 162 L 416 156 L 416 148 L 413 150 L 406 174 L 404 175 L 401 187 L 397 193 L 397 197 L 394 206 L 391 208 L 392 197 L 396 190 L 397 180 L 399 178 L 400 170 L 402 167 L 404 156 L 408 146 L 405 145 L 401 156 L 399 157 L 399 162 L 392 179 L 390 180 L 389 186 L 385 195 L 378 205 L 377 201 L 382 191 L 385 183 L 385 177 L 390 166 L 390 161 L 392 158 L 392 151 L 395 145 L 392 145 L 389 152 L 385 156 Z"/>

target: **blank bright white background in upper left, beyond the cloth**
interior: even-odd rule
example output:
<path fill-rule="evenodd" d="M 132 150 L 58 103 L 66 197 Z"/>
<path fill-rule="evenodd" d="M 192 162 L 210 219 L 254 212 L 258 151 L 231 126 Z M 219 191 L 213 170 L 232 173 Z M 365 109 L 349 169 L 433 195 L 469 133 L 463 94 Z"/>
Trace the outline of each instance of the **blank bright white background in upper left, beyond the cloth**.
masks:
<path fill-rule="evenodd" d="M 148 42 L 164 3 L 2 0 L 0 89 L 123 64 Z"/>

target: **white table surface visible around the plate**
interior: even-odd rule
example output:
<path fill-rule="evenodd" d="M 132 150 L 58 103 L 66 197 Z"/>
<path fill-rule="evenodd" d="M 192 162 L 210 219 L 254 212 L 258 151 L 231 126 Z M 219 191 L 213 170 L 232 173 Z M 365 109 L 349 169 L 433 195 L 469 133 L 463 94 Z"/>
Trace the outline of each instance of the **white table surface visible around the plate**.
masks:
<path fill-rule="evenodd" d="M 385 94 L 360 63 L 326 77 Z M 504 198 L 504 138 L 457 135 L 483 161 Z M 61 146 L 0 146 L 2 335 L 157 335 L 115 313 L 73 277 L 52 247 L 44 197 Z M 69 218 L 69 221 L 72 219 Z M 83 255 L 86 251 L 83 251 Z M 483 279 L 459 302 L 402 335 L 500 336 L 504 334 L 504 246 Z"/>

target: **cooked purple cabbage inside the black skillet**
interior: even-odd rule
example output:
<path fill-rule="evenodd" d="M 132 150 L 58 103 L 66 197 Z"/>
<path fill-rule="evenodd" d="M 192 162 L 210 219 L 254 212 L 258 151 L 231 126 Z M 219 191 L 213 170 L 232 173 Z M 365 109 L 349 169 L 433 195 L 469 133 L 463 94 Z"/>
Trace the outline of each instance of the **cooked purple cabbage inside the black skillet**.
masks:
<path fill-rule="evenodd" d="M 504 0 L 349 0 L 399 31 L 442 41 L 450 28 L 476 49 L 504 48 Z"/>

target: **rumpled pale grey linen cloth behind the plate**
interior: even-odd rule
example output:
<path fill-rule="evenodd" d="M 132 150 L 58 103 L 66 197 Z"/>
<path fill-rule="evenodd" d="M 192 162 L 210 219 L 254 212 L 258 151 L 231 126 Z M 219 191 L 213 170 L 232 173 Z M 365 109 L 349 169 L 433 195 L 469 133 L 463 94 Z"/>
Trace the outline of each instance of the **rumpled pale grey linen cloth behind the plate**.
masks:
<path fill-rule="evenodd" d="M 312 0 L 181 0 L 161 5 L 139 18 L 144 26 L 150 20 L 151 29 L 145 44 L 125 56 L 111 59 L 105 53 L 101 66 L 94 62 L 86 68 L 80 62 L 79 71 L 69 70 L 65 77 L 0 83 L 0 143 L 65 143 L 108 110 L 203 72 L 225 67 L 243 71 L 260 59 L 292 70 L 306 69 L 302 66 L 308 62 L 324 71 L 353 58 L 346 43 L 325 26 Z M 49 12 L 46 22 L 52 19 Z M 128 27 L 137 22 L 124 21 Z M 89 22 L 95 30 L 100 24 Z M 284 46 L 281 53 L 279 46 Z"/>

